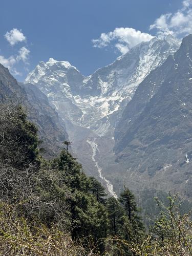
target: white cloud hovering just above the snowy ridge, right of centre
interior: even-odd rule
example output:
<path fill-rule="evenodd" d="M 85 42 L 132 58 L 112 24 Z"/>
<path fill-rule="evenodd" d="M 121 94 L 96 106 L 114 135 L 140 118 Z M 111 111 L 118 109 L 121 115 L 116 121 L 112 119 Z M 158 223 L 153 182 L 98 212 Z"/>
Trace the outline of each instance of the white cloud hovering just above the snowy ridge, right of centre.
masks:
<path fill-rule="evenodd" d="M 93 39 L 92 42 L 94 47 L 103 48 L 115 41 L 115 47 L 124 54 L 140 42 L 149 41 L 153 37 L 133 28 L 116 28 L 112 32 L 102 33 L 98 39 Z"/>

